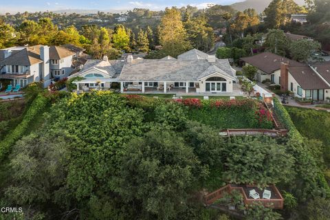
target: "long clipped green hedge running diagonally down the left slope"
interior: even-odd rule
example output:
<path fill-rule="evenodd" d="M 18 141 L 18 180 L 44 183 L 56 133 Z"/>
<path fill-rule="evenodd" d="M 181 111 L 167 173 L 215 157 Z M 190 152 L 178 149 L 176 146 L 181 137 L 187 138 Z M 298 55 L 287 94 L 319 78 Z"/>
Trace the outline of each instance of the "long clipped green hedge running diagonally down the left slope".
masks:
<path fill-rule="evenodd" d="M 45 98 L 45 96 L 39 94 L 33 100 L 30 108 L 26 111 L 25 115 L 23 116 L 23 120 L 17 127 L 10 131 L 10 133 L 5 136 L 3 141 L 0 142 L 0 160 L 2 161 L 10 151 L 12 145 L 21 138 L 24 133 L 28 130 L 31 122 L 36 119 L 45 110 L 47 104 L 50 103 L 50 99 Z"/>

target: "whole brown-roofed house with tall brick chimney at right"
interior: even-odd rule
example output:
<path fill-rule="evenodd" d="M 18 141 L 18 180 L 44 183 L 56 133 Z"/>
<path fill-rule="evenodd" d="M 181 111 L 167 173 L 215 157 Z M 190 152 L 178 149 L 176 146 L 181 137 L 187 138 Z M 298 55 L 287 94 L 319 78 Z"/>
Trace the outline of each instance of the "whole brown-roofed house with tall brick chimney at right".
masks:
<path fill-rule="evenodd" d="M 330 62 L 306 65 L 269 52 L 242 58 L 245 65 L 258 69 L 256 80 L 270 80 L 292 91 L 298 98 L 327 100 L 330 98 Z"/>

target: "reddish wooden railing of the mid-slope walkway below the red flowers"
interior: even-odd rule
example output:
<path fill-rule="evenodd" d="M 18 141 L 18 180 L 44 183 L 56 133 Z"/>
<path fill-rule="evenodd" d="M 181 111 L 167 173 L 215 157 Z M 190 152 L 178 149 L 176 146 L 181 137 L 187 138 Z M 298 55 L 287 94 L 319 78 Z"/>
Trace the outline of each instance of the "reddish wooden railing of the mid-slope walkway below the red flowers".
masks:
<path fill-rule="evenodd" d="M 270 130 L 270 129 L 226 129 L 221 132 L 226 132 L 230 135 L 270 135 L 270 136 L 286 136 L 287 130 Z"/>

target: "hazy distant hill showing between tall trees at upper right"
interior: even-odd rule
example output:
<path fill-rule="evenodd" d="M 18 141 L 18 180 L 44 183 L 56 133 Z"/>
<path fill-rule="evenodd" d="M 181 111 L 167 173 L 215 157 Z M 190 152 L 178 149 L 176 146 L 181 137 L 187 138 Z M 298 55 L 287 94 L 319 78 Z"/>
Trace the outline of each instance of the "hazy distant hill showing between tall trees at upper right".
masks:
<path fill-rule="evenodd" d="M 254 8 L 257 12 L 261 13 L 272 0 L 245 0 L 237 3 L 233 3 L 232 8 L 243 11 L 248 8 Z M 305 0 L 294 0 L 298 5 L 305 5 Z"/>

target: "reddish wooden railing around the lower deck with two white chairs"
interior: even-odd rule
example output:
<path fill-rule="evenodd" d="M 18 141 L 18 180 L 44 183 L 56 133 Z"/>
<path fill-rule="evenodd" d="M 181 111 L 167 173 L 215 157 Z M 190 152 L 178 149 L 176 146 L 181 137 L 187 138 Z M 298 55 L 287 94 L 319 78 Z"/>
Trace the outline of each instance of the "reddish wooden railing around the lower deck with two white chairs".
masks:
<path fill-rule="evenodd" d="M 221 199 L 225 192 L 231 192 L 232 190 L 239 190 L 243 195 L 243 202 L 245 205 L 252 205 L 253 203 L 260 202 L 265 207 L 275 208 L 275 209 L 283 209 L 284 199 L 281 193 L 278 191 L 276 186 L 271 185 L 272 191 L 277 195 L 278 199 L 250 199 L 246 195 L 243 187 L 240 186 L 231 186 L 230 184 L 219 188 L 214 192 L 209 193 L 208 195 L 204 196 L 204 201 L 206 205 L 211 205 L 214 201 Z"/>

